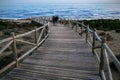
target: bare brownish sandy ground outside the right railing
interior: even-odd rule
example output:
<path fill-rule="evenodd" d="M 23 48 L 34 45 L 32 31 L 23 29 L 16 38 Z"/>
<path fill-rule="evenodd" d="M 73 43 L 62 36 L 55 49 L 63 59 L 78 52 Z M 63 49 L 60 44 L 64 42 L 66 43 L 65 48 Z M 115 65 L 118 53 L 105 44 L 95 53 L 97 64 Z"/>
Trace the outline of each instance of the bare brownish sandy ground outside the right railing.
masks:
<path fill-rule="evenodd" d="M 120 33 L 116 33 L 115 31 L 97 31 L 98 34 L 101 32 L 105 32 L 106 34 L 109 34 L 112 37 L 112 40 L 106 41 L 106 43 L 116 56 L 120 56 Z M 119 72 L 115 71 L 113 68 L 111 68 L 111 71 L 113 79 L 120 80 Z"/>

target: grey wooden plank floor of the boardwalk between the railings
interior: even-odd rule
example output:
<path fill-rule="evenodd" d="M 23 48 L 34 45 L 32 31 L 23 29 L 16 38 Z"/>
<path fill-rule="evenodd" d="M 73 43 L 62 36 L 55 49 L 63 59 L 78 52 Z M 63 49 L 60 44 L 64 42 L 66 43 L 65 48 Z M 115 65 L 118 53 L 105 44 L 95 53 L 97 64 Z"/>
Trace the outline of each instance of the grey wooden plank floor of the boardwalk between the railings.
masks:
<path fill-rule="evenodd" d="M 100 80 L 91 49 L 78 33 L 58 24 L 19 67 L 0 80 Z"/>

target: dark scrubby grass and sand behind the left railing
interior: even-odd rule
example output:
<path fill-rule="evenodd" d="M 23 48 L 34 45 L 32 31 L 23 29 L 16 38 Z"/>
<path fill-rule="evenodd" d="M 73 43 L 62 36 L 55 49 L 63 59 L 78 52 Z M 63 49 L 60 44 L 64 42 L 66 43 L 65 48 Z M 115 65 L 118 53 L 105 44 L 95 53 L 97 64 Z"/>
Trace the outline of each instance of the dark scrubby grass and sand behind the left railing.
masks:
<path fill-rule="evenodd" d="M 0 29 L 0 40 L 10 37 L 11 32 L 15 32 L 15 34 L 17 35 L 17 34 L 22 34 L 22 33 L 28 32 L 30 30 L 33 30 L 33 29 L 35 29 L 35 26 L 36 27 L 41 26 L 40 24 L 32 22 L 29 19 L 0 20 L 0 21 L 7 24 L 7 27 L 8 27 L 8 28 L 6 28 L 6 25 L 0 25 L 0 27 L 2 27 Z M 22 37 L 20 39 L 34 43 L 34 36 L 33 35 L 34 35 L 34 33 L 27 35 L 25 37 Z M 8 42 L 1 43 L 0 49 L 2 49 L 2 47 L 4 47 L 7 43 Z M 31 46 L 31 45 L 17 42 L 18 57 L 23 55 L 25 52 L 30 50 L 32 47 L 33 46 Z M 9 64 L 11 61 L 13 61 L 13 59 L 14 59 L 14 57 L 13 57 L 13 52 L 12 52 L 12 46 L 10 46 L 0 55 L 0 64 L 1 64 L 0 68 L 3 68 L 7 64 Z"/>

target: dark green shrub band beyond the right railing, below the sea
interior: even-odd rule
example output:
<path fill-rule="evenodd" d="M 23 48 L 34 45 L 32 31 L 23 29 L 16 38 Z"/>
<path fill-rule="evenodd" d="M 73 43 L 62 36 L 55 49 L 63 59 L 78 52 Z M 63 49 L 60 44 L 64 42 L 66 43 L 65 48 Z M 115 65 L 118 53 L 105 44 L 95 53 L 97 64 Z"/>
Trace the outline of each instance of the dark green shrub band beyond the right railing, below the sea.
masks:
<path fill-rule="evenodd" d="M 89 24 L 91 28 L 96 28 L 98 30 L 109 31 L 120 29 L 120 20 L 118 19 L 83 20 L 83 22 L 85 25 Z"/>

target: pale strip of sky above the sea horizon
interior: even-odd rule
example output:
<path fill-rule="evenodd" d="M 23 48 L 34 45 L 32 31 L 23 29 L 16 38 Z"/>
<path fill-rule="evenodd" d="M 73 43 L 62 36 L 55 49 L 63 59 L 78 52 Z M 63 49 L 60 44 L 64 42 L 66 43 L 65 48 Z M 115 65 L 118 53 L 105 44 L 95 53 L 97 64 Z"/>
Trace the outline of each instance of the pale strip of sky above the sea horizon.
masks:
<path fill-rule="evenodd" d="M 0 0 L 0 3 L 120 3 L 120 0 Z"/>

